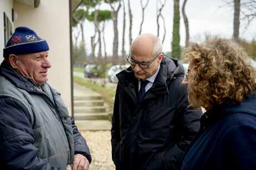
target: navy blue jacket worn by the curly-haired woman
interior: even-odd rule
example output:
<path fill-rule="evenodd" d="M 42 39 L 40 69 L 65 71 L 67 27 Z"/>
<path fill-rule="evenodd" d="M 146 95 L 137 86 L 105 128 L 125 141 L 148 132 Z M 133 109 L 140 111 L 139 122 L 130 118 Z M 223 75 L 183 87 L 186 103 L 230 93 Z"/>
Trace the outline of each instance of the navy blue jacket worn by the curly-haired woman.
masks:
<path fill-rule="evenodd" d="M 201 118 L 181 169 L 256 169 L 256 95 L 218 106 Z"/>

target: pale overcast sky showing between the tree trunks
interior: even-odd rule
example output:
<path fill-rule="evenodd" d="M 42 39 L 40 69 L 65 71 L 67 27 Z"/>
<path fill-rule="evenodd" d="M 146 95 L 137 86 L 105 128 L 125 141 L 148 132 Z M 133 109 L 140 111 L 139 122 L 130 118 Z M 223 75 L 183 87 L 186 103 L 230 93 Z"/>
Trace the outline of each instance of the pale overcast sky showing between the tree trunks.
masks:
<path fill-rule="evenodd" d="M 162 2 L 164 0 L 161 0 Z M 145 4 L 146 0 L 142 0 Z M 153 33 L 157 35 L 157 22 L 156 22 L 156 9 L 157 0 L 150 0 L 149 4 L 145 9 L 144 24 L 142 25 L 142 33 Z M 180 8 L 182 7 L 183 1 L 180 1 Z M 140 0 L 130 0 L 131 12 L 132 12 L 132 39 L 134 40 L 140 31 L 140 24 L 142 20 L 142 8 Z M 204 35 L 219 35 L 226 38 L 231 38 L 233 35 L 233 8 L 224 5 L 223 0 L 187 0 L 186 3 L 186 15 L 189 22 L 190 29 L 190 40 L 201 42 L 204 40 Z M 129 53 L 129 13 L 128 6 L 126 4 L 126 30 L 125 30 L 125 50 Z M 160 8 L 160 4 L 158 4 Z M 110 9 L 109 4 L 101 4 L 101 10 Z M 115 8 L 116 9 L 116 8 Z M 166 5 L 162 9 L 162 15 L 165 18 L 166 35 L 165 41 L 163 42 L 163 52 L 171 51 L 171 40 L 172 40 L 172 20 L 173 20 L 173 1 L 166 0 Z M 180 35 L 181 35 L 181 46 L 185 45 L 185 26 L 183 22 L 182 13 L 180 10 Z M 123 22 L 123 10 L 122 7 L 119 11 L 118 29 L 119 29 L 119 54 L 121 54 L 122 44 L 122 22 Z M 160 20 L 160 35 L 159 38 L 163 38 L 163 22 Z M 254 21 L 246 27 L 244 21 L 240 21 L 239 37 L 248 41 L 256 38 L 256 22 Z M 93 23 L 85 22 L 85 41 L 87 53 L 91 52 L 90 36 L 94 34 Z M 107 55 L 112 55 L 112 44 L 114 39 L 113 23 L 110 20 L 106 24 L 105 28 L 105 41 Z M 104 49 L 103 49 L 104 50 Z M 96 54 L 98 50 L 96 49 Z M 103 51 L 104 54 L 104 51 Z"/>

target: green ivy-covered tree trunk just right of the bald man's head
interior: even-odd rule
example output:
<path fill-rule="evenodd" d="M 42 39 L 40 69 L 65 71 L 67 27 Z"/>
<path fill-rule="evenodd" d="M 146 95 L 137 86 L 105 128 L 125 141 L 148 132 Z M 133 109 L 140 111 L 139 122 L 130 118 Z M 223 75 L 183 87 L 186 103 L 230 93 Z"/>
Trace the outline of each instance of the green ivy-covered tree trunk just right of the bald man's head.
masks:
<path fill-rule="evenodd" d="M 174 0 L 173 30 L 172 30 L 172 57 L 181 59 L 180 47 L 180 0 Z"/>

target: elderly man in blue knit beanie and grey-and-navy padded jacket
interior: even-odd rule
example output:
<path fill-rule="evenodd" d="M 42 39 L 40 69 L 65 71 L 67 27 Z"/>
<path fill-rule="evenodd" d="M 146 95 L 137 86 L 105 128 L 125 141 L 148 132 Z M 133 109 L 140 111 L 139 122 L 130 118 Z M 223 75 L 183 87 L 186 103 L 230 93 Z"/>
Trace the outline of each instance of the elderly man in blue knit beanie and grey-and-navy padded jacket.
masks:
<path fill-rule="evenodd" d="M 1 169 L 89 169 L 90 151 L 47 83 L 48 44 L 16 28 L 0 66 Z"/>

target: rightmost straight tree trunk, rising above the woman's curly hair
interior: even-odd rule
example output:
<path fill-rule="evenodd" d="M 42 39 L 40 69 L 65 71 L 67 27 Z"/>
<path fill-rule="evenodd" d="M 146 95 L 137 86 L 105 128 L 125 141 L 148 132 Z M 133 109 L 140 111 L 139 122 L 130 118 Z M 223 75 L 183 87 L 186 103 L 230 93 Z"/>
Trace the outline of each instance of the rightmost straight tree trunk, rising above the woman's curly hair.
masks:
<path fill-rule="evenodd" d="M 233 38 L 238 41 L 239 38 L 239 16 L 240 16 L 240 0 L 234 0 L 234 24 L 233 24 Z"/>

